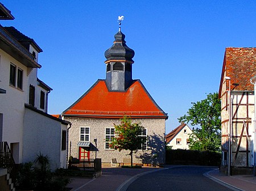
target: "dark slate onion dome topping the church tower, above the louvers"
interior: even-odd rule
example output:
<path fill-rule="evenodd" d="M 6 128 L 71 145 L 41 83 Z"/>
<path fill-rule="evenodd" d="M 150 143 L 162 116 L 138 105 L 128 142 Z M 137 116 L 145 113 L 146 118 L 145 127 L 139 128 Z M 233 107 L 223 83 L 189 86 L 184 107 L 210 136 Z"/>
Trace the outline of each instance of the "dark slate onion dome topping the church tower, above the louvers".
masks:
<path fill-rule="evenodd" d="M 106 61 L 105 63 L 109 62 L 117 62 L 117 61 L 124 61 L 133 63 L 134 57 L 134 50 L 130 49 L 126 45 L 125 35 L 121 32 L 120 28 L 118 33 L 115 34 L 115 41 L 114 44 L 105 52 Z"/>

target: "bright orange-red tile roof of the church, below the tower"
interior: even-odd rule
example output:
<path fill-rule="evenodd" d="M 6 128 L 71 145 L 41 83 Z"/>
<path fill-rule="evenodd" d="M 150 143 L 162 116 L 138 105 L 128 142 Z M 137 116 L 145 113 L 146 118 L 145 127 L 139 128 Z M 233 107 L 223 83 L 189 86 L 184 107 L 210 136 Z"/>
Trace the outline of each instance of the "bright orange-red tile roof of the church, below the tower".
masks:
<path fill-rule="evenodd" d="M 126 92 L 109 91 L 105 80 L 97 80 L 84 95 L 63 112 L 63 115 L 96 118 L 168 118 L 140 80 L 134 80 Z"/>

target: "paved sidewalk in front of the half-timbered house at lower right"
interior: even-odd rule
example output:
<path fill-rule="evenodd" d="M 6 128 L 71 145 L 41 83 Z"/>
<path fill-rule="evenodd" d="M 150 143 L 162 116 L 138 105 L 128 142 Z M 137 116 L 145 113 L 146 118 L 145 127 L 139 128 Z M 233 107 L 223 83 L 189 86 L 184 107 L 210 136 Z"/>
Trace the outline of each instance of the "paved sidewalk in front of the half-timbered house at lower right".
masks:
<path fill-rule="evenodd" d="M 215 169 L 205 173 L 205 176 L 222 185 L 229 186 L 233 190 L 256 190 L 256 176 L 253 175 L 226 176 L 220 173 L 218 169 Z"/>

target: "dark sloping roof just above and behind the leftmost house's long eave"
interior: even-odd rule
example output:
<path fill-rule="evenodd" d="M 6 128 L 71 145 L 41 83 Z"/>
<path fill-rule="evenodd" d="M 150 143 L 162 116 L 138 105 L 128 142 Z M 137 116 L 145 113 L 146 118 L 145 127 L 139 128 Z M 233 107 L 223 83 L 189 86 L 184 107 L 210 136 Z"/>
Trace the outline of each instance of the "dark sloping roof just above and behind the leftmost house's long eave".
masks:
<path fill-rule="evenodd" d="M 38 46 L 38 44 L 35 43 L 34 39 L 31 39 L 30 37 L 24 35 L 18 29 L 14 27 L 3 27 L 8 31 L 16 40 L 19 41 L 25 48 L 29 50 L 29 44 L 33 44 L 38 52 L 43 52 L 43 50 Z"/>

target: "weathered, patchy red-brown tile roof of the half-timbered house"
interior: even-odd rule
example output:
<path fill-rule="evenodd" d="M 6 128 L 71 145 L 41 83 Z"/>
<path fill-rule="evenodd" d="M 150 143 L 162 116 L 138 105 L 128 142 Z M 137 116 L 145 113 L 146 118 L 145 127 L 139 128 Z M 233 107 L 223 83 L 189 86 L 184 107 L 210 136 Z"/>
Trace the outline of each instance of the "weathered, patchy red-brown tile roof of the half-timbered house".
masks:
<path fill-rule="evenodd" d="M 220 90 L 224 80 L 224 72 L 231 78 L 232 91 L 253 91 L 250 78 L 256 75 L 256 48 L 226 48 L 221 74 Z M 229 89 L 226 83 L 226 90 Z"/>

